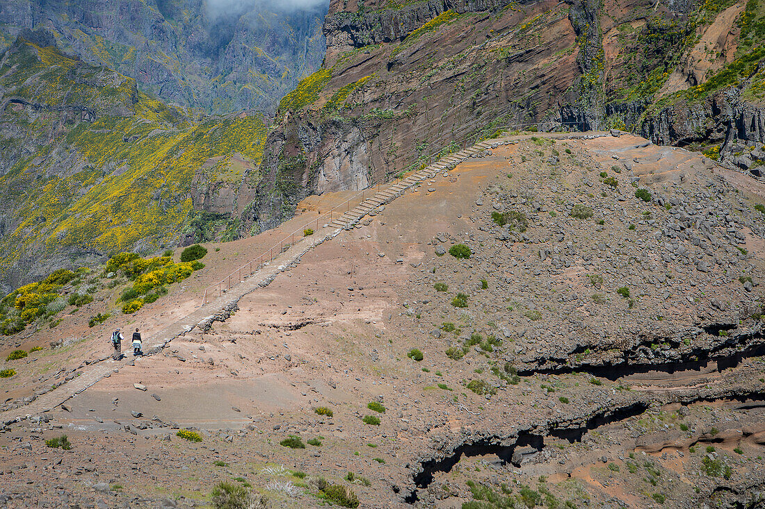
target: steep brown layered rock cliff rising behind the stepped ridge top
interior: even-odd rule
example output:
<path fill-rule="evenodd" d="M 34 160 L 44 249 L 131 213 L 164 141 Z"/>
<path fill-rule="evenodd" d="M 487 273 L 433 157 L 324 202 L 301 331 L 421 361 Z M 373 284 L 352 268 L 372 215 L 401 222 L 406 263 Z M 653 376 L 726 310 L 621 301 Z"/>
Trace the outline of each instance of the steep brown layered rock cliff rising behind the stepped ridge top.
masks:
<path fill-rule="evenodd" d="M 267 142 L 278 199 L 252 211 L 278 217 L 507 125 L 724 142 L 709 153 L 732 160 L 765 141 L 763 19 L 757 0 L 334 1 L 324 67 L 282 100 Z"/>

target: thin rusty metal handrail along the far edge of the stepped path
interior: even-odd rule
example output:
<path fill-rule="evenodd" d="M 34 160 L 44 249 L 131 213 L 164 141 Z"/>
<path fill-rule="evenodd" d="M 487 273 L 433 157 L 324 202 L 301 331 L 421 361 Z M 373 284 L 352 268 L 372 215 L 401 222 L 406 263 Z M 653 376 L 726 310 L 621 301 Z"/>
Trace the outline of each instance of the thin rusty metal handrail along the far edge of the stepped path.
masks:
<path fill-rule="evenodd" d="M 517 129 L 517 128 L 522 128 L 522 127 L 528 127 L 530 125 L 536 125 L 539 128 L 539 125 L 542 124 L 542 123 L 546 124 L 548 122 L 534 122 L 534 123 L 529 123 L 529 124 L 503 125 L 503 126 L 497 127 L 496 131 L 507 131 L 509 129 Z M 556 124 L 556 125 L 578 125 L 578 126 L 581 126 L 582 128 L 584 128 L 584 122 L 549 122 L 549 123 Z M 430 164 L 432 164 L 431 163 L 431 159 L 434 156 L 439 156 L 439 158 L 440 158 L 440 157 L 444 157 L 447 154 L 454 154 L 454 152 L 446 152 L 444 154 L 444 151 L 448 150 L 448 148 L 450 148 L 454 144 L 457 144 L 457 146 L 459 146 L 460 144 L 464 143 L 464 147 L 462 148 L 462 150 L 467 150 L 467 141 L 470 140 L 471 138 L 474 138 L 475 136 L 476 135 L 470 135 L 470 136 L 462 138 L 461 140 L 458 140 L 458 141 L 451 141 L 451 143 L 448 144 L 448 146 L 446 148 L 442 148 L 440 151 L 436 151 L 436 152 L 433 152 L 433 153 L 429 154 L 427 156 L 428 164 L 426 164 L 425 167 L 428 167 Z M 487 139 L 491 139 L 491 138 L 483 138 L 483 140 L 481 140 L 481 141 L 485 141 Z M 475 143 L 478 143 L 478 142 L 479 141 L 475 141 Z M 418 165 L 424 164 L 424 159 L 425 158 L 422 157 L 422 156 L 418 157 L 418 159 L 415 160 L 415 162 L 413 162 L 412 164 L 409 164 L 409 166 L 406 166 L 402 170 L 399 170 L 398 172 L 396 172 L 396 175 L 400 175 L 401 173 L 407 173 L 407 172 L 411 171 L 414 167 L 416 167 Z M 260 254 L 260 256 L 258 256 L 257 258 L 253 258 L 251 261 L 247 262 L 246 264 L 243 264 L 241 267 L 236 269 L 236 271 L 233 271 L 231 274 L 229 274 L 227 277 L 224 277 L 218 283 L 211 284 L 210 286 L 206 287 L 204 289 L 204 293 L 203 293 L 203 297 L 202 297 L 202 306 L 207 304 L 207 290 L 210 290 L 210 289 L 213 289 L 213 288 L 217 287 L 217 289 L 218 289 L 218 297 L 220 297 L 221 295 L 223 295 L 223 288 L 222 288 L 223 284 L 226 284 L 227 290 L 231 290 L 231 279 L 232 279 L 232 277 L 234 277 L 236 275 L 236 284 L 242 282 L 242 280 L 243 280 L 243 278 L 242 278 L 242 271 L 243 271 L 243 269 L 247 268 L 249 270 L 249 274 L 247 274 L 245 277 L 251 276 L 253 274 L 252 264 L 256 265 L 256 270 L 257 270 L 258 264 L 262 263 L 264 258 L 268 258 L 269 261 L 273 261 L 273 259 L 274 259 L 274 250 L 275 250 L 275 248 L 277 246 L 279 247 L 278 254 L 282 254 L 285 251 L 284 245 L 285 245 L 285 241 L 288 238 L 290 239 L 290 243 L 287 245 L 288 246 L 287 249 L 289 249 L 293 245 L 295 245 L 295 233 L 304 234 L 305 230 L 308 229 L 314 223 L 316 225 L 316 230 L 315 231 L 318 231 L 318 229 L 319 229 L 319 219 L 322 219 L 322 218 L 325 218 L 325 217 L 329 216 L 329 220 L 330 220 L 330 222 L 332 222 L 332 220 L 333 220 L 332 214 L 337 209 L 340 209 L 343 206 L 345 206 L 346 207 L 346 212 L 344 212 L 344 213 L 350 212 L 350 202 L 353 201 L 353 199 L 356 199 L 359 196 L 361 196 L 360 204 L 364 203 L 364 201 L 366 201 L 366 198 L 365 198 L 366 192 L 369 191 L 369 189 L 371 189 L 373 186 L 377 186 L 377 190 L 379 190 L 379 186 L 383 183 L 383 180 L 385 180 L 385 183 L 388 183 L 388 182 L 390 182 L 392 180 L 392 179 L 386 178 L 386 177 L 389 177 L 389 175 L 391 175 L 391 174 L 392 173 L 386 173 L 385 177 L 383 177 L 382 179 L 378 180 L 377 182 L 375 182 L 373 180 L 371 183 L 369 183 L 369 186 L 366 186 L 363 190 L 361 190 L 360 193 L 354 194 L 349 199 L 345 200 L 343 203 L 340 203 L 340 205 L 334 206 L 334 208 L 330 209 L 329 212 L 325 212 L 321 216 L 318 216 L 316 219 L 311 219 L 311 221 L 309 221 L 309 222 L 305 223 L 304 225 L 302 225 L 301 228 L 296 229 L 294 232 L 291 232 L 291 234 L 285 236 L 285 238 L 282 238 L 282 240 L 279 241 L 277 244 L 272 245 L 272 247 L 269 248 L 268 251 L 263 251 L 262 254 Z M 342 217 L 342 216 L 340 216 L 340 217 Z"/>

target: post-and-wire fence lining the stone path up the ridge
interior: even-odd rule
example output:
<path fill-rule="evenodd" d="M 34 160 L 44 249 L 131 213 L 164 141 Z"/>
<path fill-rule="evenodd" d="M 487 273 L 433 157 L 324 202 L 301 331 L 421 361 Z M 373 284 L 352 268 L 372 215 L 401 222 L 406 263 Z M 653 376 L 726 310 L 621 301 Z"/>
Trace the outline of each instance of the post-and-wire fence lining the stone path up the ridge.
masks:
<path fill-rule="evenodd" d="M 553 128 L 559 129 L 561 127 L 565 128 L 565 131 L 570 131 L 570 130 L 584 131 L 584 128 L 588 127 L 588 125 L 589 125 L 588 122 L 533 122 L 529 124 L 502 125 L 502 126 L 497 126 L 496 129 L 492 128 L 492 130 L 496 134 L 496 133 L 506 132 L 510 130 L 519 130 L 520 128 L 535 126 L 536 131 L 542 131 L 543 129 L 546 129 L 546 131 L 552 131 Z M 289 233 L 284 238 L 282 238 L 282 240 L 272 245 L 271 248 L 269 248 L 266 251 L 263 251 L 258 257 L 253 258 L 252 260 L 248 261 L 246 264 L 243 264 L 241 267 L 233 271 L 228 276 L 224 277 L 219 282 L 215 284 L 211 284 L 209 287 L 205 288 L 203 292 L 203 297 L 202 297 L 202 306 L 208 303 L 208 298 L 210 297 L 211 293 L 215 294 L 216 297 L 220 297 L 221 295 L 223 295 L 224 292 L 231 290 L 232 284 L 241 283 L 244 279 L 251 276 L 255 271 L 257 271 L 261 264 L 273 261 L 273 259 L 276 256 L 278 256 L 278 254 L 282 254 L 283 252 L 291 248 L 293 245 L 295 245 L 296 234 L 298 235 L 298 241 L 299 241 L 304 236 L 311 235 L 311 233 L 308 232 L 308 229 L 311 229 L 311 226 L 315 226 L 314 229 L 311 229 L 313 230 L 313 232 L 318 232 L 319 222 L 324 222 L 324 219 L 327 219 L 327 224 L 328 224 L 328 223 L 331 223 L 335 218 L 340 219 L 340 217 L 342 217 L 343 214 L 350 212 L 350 209 L 351 209 L 350 203 L 355 201 L 359 197 L 361 197 L 359 205 L 361 203 L 364 203 L 366 201 L 367 194 L 369 196 L 373 196 L 373 194 L 379 191 L 379 187 L 382 186 L 382 184 L 389 183 L 392 180 L 391 178 L 392 176 L 402 176 L 403 173 L 408 173 L 409 171 L 412 171 L 415 169 L 422 169 L 422 168 L 428 167 L 430 166 L 430 164 L 432 164 L 434 159 L 438 160 L 441 157 L 448 156 L 448 154 L 454 154 L 455 152 L 467 149 L 469 141 L 472 141 L 470 143 L 472 145 L 472 144 L 480 143 L 480 141 L 485 141 L 487 139 L 491 139 L 491 138 L 482 137 L 480 133 L 474 133 L 458 141 L 451 141 L 450 144 L 448 144 L 445 148 L 442 148 L 440 151 L 435 151 L 431 154 L 428 154 L 427 156 L 418 157 L 418 159 L 415 160 L 414 163 L 409 164 L 409 166 L 404 167 L 402 170 L 399 170 L 397 172 L 386 172 L 378 180 L 371 180 L 369 184 L 363 190 L 360 191 L 360 193 L 354 194 L 349 199 L 345 200 L 343 203 L 340 203 L 340 205 L 334 206 L 328 212 L 324 212 L 324 214 L 321 214 L 321 216 L 317 216 L 315 219 L 311 219 L 311 221 L 306 222 L 300 228 L 295 229 L 294 232 Z M 343 210 L 343 208 L 345 210 L 343 212 L 340 212 Z M 253 267 L 255 268 L 253 269 Z"/>

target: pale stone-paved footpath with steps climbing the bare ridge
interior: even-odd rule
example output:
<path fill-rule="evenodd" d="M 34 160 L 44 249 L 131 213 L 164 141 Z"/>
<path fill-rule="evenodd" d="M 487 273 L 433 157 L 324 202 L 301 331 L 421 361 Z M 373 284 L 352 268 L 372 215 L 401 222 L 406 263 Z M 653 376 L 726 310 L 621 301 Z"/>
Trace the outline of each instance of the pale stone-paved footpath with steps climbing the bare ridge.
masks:
<path fill-rule="evenodd" d="M 564 139 L 592 139 L 611 136 L 609 131 L 584 132 L 584 133 L 540 133 L 535 135 L 539 138 L 553 138 L 556 140 Z M 145 339 L 145 344 L 150 345 L 146 349 L 147 355 L 153 355 L 160 352 L 169 342 L 179 336 L 184 336 L 194 329 L 207 329 L 214 321 L 224 321 L 231 313 L 236 311 L 239 300 L 260 287 L 268 286 L 275 277 L 283 271 L 288 270 L 294 264 L 300 262 L 301 257 L 309 249 L 314 248 L 328 240 L 340 235 L 343 229 L 352 229 L 364 216 L 372 212 L 379 206 L 391 202 L 393 199 L 401 196 L 406 190 L 421 185 L 425 180 L 435 177 L 438 173 L 453 170 L 457 164 L 464 162 L 470 157 L 478 157 L 484 151 L 490 151 L 492 148 L 501 145 L 515 144 L 519 141 L 525 141 L 532 138 L 532 135 L 508 136 L 481 141 L 471 147 L 454 154 L 448 154 L 428 167 L 418 170 L 408 177 L 382 186 L 372 196 L 365 199 L 360 205 L 343 214 L 337 219 L 332 220 L 314 235 L 304 237 L 294 245 L 289 246 L 281 254 L 275 256 L 272 261 L 262 264 L 251 275 L 243 277 L 243 282 L 233 284 L 232 287 L 219 297 L 208 300 L 207 304 L 197 307 L 194 312 L 178 319 L 174 323 L 168 324 L 164 329 Z M 201 302 L 201 296 L 200 296 Z M 39 415 L 52 410 L 65 403 L 71 397 L 80 394 L 88 387 L 93 386 L 98 381 L 109 376 L 112 372 L 119 370 L 132 362 L 132 356 L 115 361 L 112 358 L 104 358 L 101 361 L 94 362 L 88 366 L 79 376 L 73 378 L 65 384 L 56 387 L 54 390 L 42 394 L 23 407 L 8 410 L 0 413 L 0 422 L 12 423 L 27 419 L 28 417 Z"/>

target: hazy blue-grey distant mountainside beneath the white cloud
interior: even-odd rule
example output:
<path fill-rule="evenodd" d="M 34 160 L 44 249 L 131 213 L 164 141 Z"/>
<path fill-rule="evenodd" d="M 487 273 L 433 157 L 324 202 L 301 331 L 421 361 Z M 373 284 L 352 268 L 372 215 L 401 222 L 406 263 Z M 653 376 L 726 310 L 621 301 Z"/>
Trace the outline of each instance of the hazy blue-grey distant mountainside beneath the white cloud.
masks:
<path fill-rule="evenodd" d="M 272 112 L 324 57 L 326 5 L 203 0 L 14 0 L 0 2 L 5 49 L 23 29 L 47 28 L 93 65 L 130 76 L 164 102 Z"/>

